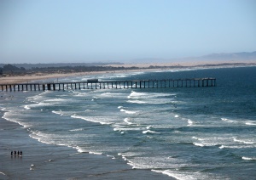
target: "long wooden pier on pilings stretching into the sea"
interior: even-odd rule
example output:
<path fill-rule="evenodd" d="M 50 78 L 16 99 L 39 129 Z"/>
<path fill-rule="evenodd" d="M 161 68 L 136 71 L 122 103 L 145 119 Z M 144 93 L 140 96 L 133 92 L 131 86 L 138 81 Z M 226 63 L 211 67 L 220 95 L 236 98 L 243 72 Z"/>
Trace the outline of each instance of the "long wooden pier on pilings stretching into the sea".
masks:
<path fill-rule="evenodd" d="M 110 89 L 110 88 L 166 88 L 166 87 L 215 87 L 216 78 L 188 78 L 165 80 L 131 81 L 85 81 L 85 82 L 49 82 L 0 84 L 5 92 L 16 91 L 63 91 L 68 89 Z"/>

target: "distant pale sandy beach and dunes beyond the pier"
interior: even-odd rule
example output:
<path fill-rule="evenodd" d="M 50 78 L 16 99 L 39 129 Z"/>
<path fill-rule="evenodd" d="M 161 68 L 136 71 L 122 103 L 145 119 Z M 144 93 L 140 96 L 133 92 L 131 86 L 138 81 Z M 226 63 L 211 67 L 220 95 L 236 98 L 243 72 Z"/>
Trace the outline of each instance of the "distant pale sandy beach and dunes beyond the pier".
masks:
<path fill-rule="evenodd" d="M 211 68 L 225 68 L 225 67 L 243 67 L 243 66 L 256 66 L 256 63 L 241 63 L 242 65 L 237 65 L 237 63 L 241 62 L 232 62 L 228 65 L 224 65 L 225 62 L 190 62 L 190 63 L 184 63 L 181 62 L 177 65 L 177 63 L 152 63 L 152 64 L 127 64 L 127 65 L 112 65 L 114 67 L 118 66 L 124 66 L 126 68 L 128 67 L 139 67 L 143 69 L 137 69 L 137 70 L 113 70 L 113 71 L 90 71 L 90 72 L 74 72 L 74 73 L 53 73 L 53 74 L 40 74 L 38 75 L 26 75 L 26 76 L 5 76 L 0 77 L 0 84 L 15 84 L 15 83 L 26 83 L 26 82 L 32 82 L 37 80 L 45 80 L 45 79 L 51 79 L 51 78 L 64 78 L 64 77 L 70 77 L 70 76 L 94 76 L 94 75 L 100 75 L 100 74 L 115 74 L 115 73 L 129 73 L 129 72 L 137 72 L 137 71 L 155 71 L 155 70 L 182 70 L 182 69 L 188 69 L 188 68 L 201 68 L 201 69 L 211 69 Z M 149 68 L 149 66 L 156 66 L 156 68 Z M 159 66 L 159 67 L 158 67 Z M 162 68 L 160 68 L 162 67 Z"/>

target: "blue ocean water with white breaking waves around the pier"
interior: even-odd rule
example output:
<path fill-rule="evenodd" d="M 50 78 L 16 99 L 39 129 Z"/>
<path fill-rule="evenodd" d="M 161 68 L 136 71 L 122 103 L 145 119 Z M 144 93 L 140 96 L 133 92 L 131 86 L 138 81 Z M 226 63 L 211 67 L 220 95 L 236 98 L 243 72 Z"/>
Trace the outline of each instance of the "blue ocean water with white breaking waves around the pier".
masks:
<path fill-rule="evenodd" d="M 91 77 L 95 76 L 58 81 Z M 217 87 L 11 93 L 13 101 L 1 104 L 3 117 L 42 143 L 108 155 L 133 168 L 177 179 L 255 178 L 256 67 L 96 77 L 102 81 L 216 77 Z"/>

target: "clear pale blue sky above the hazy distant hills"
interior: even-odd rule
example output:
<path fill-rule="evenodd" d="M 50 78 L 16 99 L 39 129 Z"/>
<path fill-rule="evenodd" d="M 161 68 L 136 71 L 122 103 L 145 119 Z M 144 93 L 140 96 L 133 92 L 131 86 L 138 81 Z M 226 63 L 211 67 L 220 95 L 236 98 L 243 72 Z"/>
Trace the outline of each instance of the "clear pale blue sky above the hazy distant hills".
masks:
<path fill-rule="evenodd" d="M 0 63 L 256 50 L 255 0 L 0 0 Z"/>

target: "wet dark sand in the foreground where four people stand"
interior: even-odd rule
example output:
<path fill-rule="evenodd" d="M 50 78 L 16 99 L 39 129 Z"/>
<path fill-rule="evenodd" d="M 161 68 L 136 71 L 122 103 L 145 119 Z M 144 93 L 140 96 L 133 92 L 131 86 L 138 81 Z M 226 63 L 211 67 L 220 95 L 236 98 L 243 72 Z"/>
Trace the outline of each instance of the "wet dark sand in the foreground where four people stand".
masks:
<path fill-rule="evenodd" d="M 26 128 L 3 118 L 0 110 L 0 179 L 174 179 L 149 169 L 132 169 L 123 159 L 79 153 L 71 147 L 41 143 Z M 23 155 L 11 156 L 12 150 Z"/>

